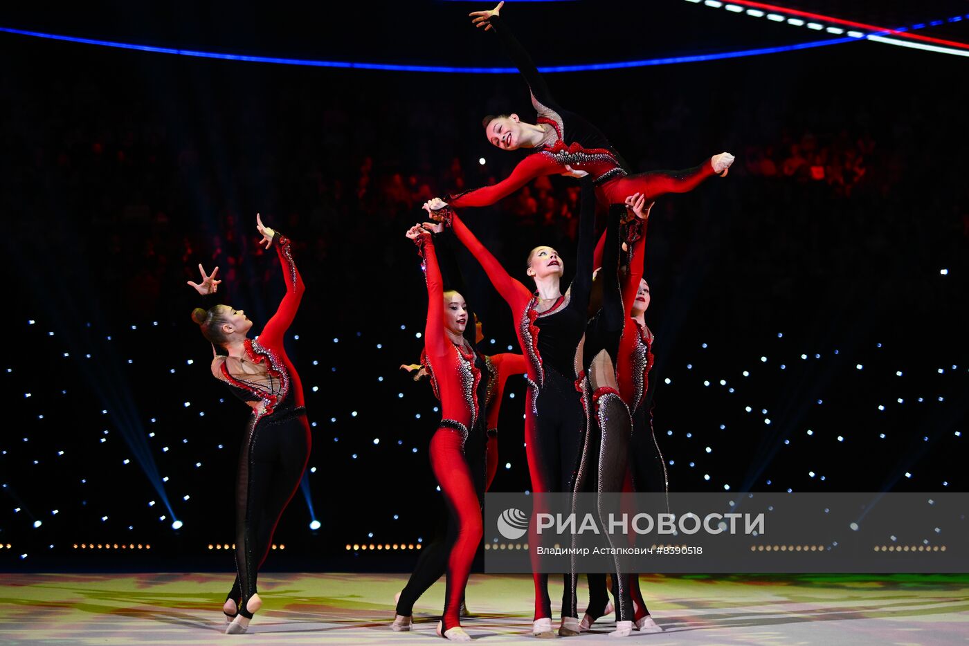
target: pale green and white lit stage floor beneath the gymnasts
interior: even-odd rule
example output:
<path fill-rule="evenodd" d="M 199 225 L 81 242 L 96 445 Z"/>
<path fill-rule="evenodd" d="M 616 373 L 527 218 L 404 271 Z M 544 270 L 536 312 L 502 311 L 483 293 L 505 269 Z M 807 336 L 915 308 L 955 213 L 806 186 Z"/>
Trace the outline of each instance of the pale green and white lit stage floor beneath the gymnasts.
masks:
<path fill-rule="evenodd" d="M 434 635 L 443 581 L 415 607 L 415 631 L 391 631 L 393 595 L 405 581 L 403 574 L 266 573 L 262 612 L 247 634 L 231 637 L 220 634 L 219 611 L 229 574 L 0 574 L 0 644 L 443 643 Z M 642 590 L 666 631 L 634 632 L 627 643 L 969 643 L 965 575 L 656 575 L 642 578 Z M 560 596 L 560 584 L 551 592 Z M 467 599 L 478 616 L 464 626 L 475 641 L 537 643 L 527 634 L 530 577 L 475 574 Z M 613 623 L 603 618 L 569 641 L 615 644 L 607 635 Z"/>

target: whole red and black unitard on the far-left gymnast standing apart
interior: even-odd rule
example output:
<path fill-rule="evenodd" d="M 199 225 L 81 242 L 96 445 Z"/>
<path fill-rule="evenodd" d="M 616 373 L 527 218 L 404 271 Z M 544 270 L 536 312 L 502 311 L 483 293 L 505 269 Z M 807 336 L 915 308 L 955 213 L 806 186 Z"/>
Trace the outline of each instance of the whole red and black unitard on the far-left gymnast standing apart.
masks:
<path fill-rule="evenodd" d="M 252 407 L 239 451 L 235 481 L 235 567 L 227 599 L 244 617 L 257 593 L 256 577 L 266 560 L 276 523 L 296 493 L 309 459 L 310 429 L 302 383 L 283 347 L 283 335 L 296 317 L 303 294 L 290 239 L 276 231 L 286 295 L 257 340 L 243 342 L 242 356 L 216 356 L 212 375 Z"/>

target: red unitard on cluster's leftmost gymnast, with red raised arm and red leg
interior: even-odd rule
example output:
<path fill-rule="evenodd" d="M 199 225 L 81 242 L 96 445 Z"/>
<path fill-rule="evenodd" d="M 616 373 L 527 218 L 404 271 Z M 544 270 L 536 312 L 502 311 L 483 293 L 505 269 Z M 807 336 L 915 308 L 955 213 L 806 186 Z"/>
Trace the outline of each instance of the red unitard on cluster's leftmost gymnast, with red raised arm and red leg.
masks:
<path fill-rule="evenodd" d="M 416 242 L 427 283 L 422 362 L 430 368 L 431 383 L 441 400 L 441 421 L 430 441 L 430 465 L 451 514 L 449 530 L 453 533 L 448 539 L 451 549 L 442 617 L 443 630 L 449 631 L 460 626 L 460 603 L 483 531 L 484 459 L 475 461 L 480 465 L 480 475 L 476 476 L 465 457 L 465 442 L 470 440 L 476 446 L 469 450 L 484 458 L 484 441 L 478 439 L 483 435 L 479 425 L 482 371 L 474 348 L 464 339 L 460 344 L 453 343 L 445 328 L 444 284 L 433 238 L 422 233 Z M 474 437 L 470 437 L 472 432 Z"/>

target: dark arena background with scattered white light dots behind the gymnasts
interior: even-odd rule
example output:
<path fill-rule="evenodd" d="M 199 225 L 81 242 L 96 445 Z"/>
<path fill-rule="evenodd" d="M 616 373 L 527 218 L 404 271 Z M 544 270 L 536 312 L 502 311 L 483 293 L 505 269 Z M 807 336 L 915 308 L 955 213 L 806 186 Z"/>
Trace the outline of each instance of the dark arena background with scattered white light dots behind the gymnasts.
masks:
<path fill-rule="evenodd" d="M 964 10 L 797 6 L 888 26 Z M 464 17 L 485 8 L 35 3 L 4 8 L 0 26 L 507 67 L 496 39 Z M 539 65 L 830 38 L 672 0 L 510 3 L 503 16 Z M 965 42 L 967 28 L 920 33 Z M 283 283 L 256 244 L 259 211 L 297 242 L 307 291 L 289 348 L 315 424 L 315 471 L 279 525 L 286 550 L 266 567 L 408 569 L 413 557 L 398 550 L 346 549 L 418 544 L 439 509 L 425 451 L 435 402 L 397 368 L 417 361 L 426 307 L 403 233 L 422 200 L 514 166 L 520 155 L 487 144 L 480 120 L 532 114 L 521 78 L 213 61 L 11 34 L 0 34 L 0 60 L 0 568 L 232 568 L 208 546 L 233 540 L 248 409 L 210 377 L 185 281 L 199 262 L 218 264 L 225 302 L 265 323 Z M 548 76 L 559 102 L 639 170 L 736 155 L 727 178 L 659 200 L 649 226 L 655 424 L 672 489 L 966 490 L 966 70 L 963 57 L 858 42 Z M 569 278 L 576 185 L 539 181 L 466 219 L 513 269 L 535 244 L 555 245 Z M 514 346 L 507 307 L 465 266 L 485 352 Z M 522 395 L 513 378 L 495 490 L 528 486 Z M 74 547 L 91 543 L 119 548 Z M 120 551 L 138 543 L 151 544 L 150 559 Z"/>

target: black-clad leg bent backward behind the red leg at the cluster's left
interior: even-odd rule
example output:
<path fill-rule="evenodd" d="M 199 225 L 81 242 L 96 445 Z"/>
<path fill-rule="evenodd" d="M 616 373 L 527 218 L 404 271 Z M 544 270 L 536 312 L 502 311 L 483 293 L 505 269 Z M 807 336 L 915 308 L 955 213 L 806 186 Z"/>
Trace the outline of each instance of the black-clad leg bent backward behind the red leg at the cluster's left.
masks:
<path fill-rule="evenodd" d="M 471 468 L 479 500 L 484 500 L 485 495 L 485 441 L 484 424 L 480 423 L 464 443 L 464 455 Z M 414 571 L 397 600 L 395 612 L 402 617 L 409 617 L 414 613 L 414 604 L 448 569 L 448 557 L 457 537 L 457 527 L 453 514 L 449 513 L 446 505 L 442 505 L 437 518 L 434 538 L 421 550 Z"/>

